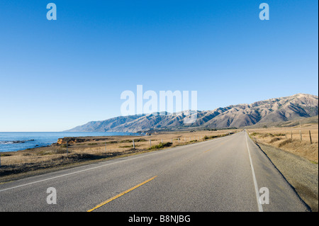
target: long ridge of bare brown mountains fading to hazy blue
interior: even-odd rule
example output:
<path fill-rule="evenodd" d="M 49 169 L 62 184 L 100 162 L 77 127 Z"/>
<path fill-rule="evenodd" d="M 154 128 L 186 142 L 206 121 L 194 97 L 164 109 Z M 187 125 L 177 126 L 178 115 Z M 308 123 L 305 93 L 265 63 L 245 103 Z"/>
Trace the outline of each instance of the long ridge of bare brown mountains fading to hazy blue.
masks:
<path fill-rule="evenodd" d="M 213 111 L 197 111 L 196 123 L 184 124 L 189 111 L 181 114 L 129 115 L 92 121 L 67 132 L 139 132 L 147 130 L 177 130 L 181 128 L 242 128 L 249 125 L 285 122 L 318 115 L 318 96 L 296 94 L 271 98 L 251 104 L 237 104 Z"/>

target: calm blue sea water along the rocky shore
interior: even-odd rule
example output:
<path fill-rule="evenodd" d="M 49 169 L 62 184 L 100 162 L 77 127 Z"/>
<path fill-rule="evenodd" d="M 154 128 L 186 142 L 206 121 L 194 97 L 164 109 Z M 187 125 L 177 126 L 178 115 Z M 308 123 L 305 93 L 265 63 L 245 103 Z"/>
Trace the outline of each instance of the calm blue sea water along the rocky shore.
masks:
<path fill-rule="evenodd" d="M 62 137 L 137 135 L 129 132 L 0 132 L 0 152 L 44 147 Z"/>

